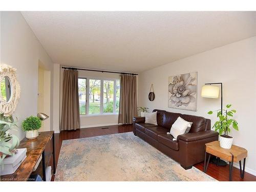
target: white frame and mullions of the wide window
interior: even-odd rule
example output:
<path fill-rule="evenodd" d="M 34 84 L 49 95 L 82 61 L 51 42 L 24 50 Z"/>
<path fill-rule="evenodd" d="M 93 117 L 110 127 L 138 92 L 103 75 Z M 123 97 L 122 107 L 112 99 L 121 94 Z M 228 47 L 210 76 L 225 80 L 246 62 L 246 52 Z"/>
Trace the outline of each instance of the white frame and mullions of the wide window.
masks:
<path fill-rule="evenodd" d="M 110 116 L 118 115 L 116 113 L 116 81 L 120 78 L 102 78 L 102 77 L 89 77 L 89 76 L 79 76 L 78 78 L 86 79 L 86 114 L 80 114 L 80 117 L 94 117 L 94 116 Z M 100 113 L 99 114 L 89 114 L 89 90 L 90 90 L 90 79 L 100 80 Z M 104 80 L 114 81 L 114 98 L 113 98 L 113 113 L 103 113 L 103 82 Z"/>

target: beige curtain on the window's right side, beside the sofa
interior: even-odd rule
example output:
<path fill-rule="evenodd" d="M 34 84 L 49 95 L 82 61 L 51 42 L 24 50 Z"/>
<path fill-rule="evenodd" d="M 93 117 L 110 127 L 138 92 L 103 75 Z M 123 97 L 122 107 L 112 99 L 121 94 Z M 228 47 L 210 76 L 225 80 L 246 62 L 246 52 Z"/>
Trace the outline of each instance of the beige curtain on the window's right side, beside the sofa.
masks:
<path fill-rule="evenodd" d="M 121 75 L 118 123 L 131 124 L 137 114 L 137 82 L 135 75 Z"/>

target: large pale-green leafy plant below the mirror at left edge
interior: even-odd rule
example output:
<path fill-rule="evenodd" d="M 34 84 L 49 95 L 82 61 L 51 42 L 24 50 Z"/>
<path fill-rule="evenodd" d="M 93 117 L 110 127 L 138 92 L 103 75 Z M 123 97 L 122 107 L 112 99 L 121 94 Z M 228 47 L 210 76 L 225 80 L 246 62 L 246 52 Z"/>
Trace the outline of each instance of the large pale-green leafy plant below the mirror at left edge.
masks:
<path fill-rule="evenodd" d="M 12 116 L 4 116 L 0 114 L 0 170 L 3 168 L 3 160 L 15 153 L 15 148 L 19 145 L 17 136 L 10 134 L 9 130 L 17 126 Z"/>

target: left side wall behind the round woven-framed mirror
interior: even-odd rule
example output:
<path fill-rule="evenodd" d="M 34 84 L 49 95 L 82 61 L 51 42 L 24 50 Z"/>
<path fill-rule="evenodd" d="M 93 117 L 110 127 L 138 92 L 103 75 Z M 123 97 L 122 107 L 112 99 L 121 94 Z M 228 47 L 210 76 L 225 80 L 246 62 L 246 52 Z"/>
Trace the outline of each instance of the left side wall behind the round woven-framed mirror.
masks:
<path fill-rule="evenodd" d="M 17 136 L 24 138 L 20 123 L 30 115 L 37 114 L 37 76 L 38 61 L 47 70 L 53 71 L 53 62 L 26 23 L 20 12 L 1 12 L 1 63 L 17 69 L 20 84 L 20 99 L 13 114 L 18 118 Z M 51 72 L 51 79 L 53 73 Z M 51 82 L 51 90 L 53 81 Z M 51 93 L 51 101 L 53 94 Z M 51 105 L 51 114 L 53 107 Z M 51 118 L 52 119 L 52 118 Z M 52 130 L 52 120 L 51 120 Z M 16 132 L 15 132 L 16 133 Z"/>

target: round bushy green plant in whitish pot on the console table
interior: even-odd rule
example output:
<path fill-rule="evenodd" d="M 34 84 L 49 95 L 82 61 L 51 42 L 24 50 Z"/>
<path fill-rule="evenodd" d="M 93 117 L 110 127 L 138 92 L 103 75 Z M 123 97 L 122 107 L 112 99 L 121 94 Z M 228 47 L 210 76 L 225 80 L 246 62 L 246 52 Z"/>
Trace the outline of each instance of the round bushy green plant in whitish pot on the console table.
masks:
<path fill-rule="evenodd" d="M 42 125 L 38 117 L 30 116 L 22 122 L 23 130 L 26 132 L 26 138 L 35 139 L 38 136 L 38 130 Z"/>

